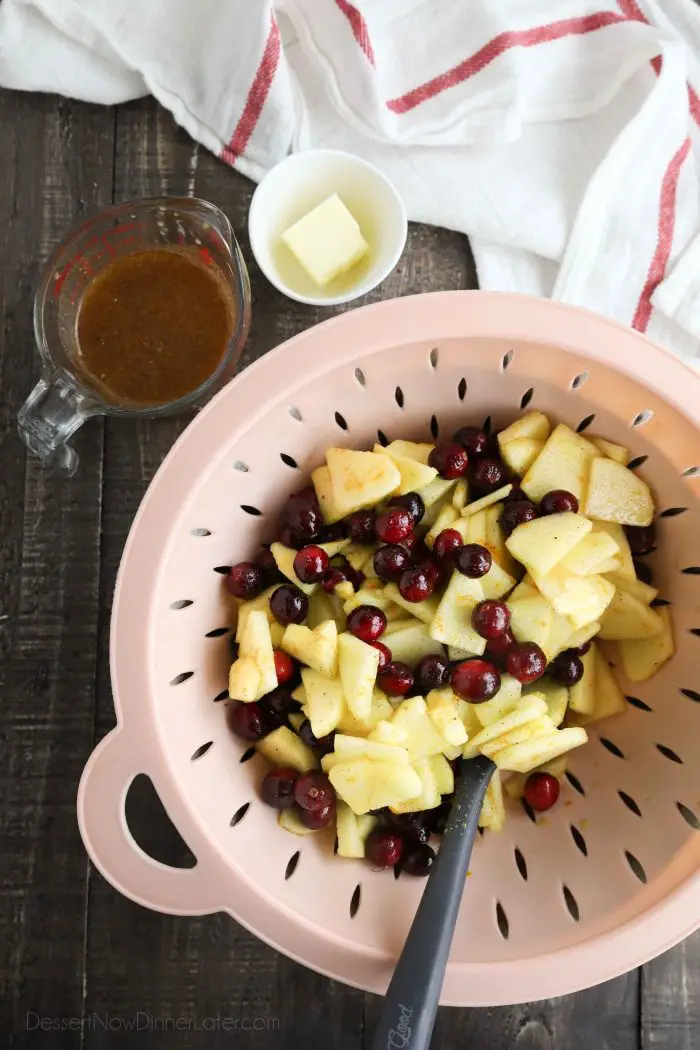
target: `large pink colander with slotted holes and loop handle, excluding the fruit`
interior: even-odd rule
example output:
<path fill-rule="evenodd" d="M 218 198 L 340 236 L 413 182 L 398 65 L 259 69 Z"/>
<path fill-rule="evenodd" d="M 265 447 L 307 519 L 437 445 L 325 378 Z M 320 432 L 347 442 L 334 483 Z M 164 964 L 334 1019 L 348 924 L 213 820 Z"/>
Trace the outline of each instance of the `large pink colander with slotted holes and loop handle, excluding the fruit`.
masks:
<path fill-rule="evenodd" d="M 232 608 L 221 567 L 270 536 L 331 445 L 429 439 L 524 406 L 641 459 L 660 511 L 651 564 L 677 654 L 572 753 L 558 805 L 512 804 L 478 841 L 443 1002 L 559 995 L 613 978 L 700 925 L 700 378 L 635 332 L 519 296 L 445 292 L 346 313 L 284 343 L 192 423 L 153 481 L 120 570 L 111 634 L 116 728 L 78 811 L 123 894 L 176 915 L 228 911 L 288 956 L 382 992 L 424 883 L 279 828 L 266 763 L 227 728 Z M 226 630 L 228 629 L 228 630 Z M 197 859 L 136 845 L 124 814 L 152 779 Z"/>

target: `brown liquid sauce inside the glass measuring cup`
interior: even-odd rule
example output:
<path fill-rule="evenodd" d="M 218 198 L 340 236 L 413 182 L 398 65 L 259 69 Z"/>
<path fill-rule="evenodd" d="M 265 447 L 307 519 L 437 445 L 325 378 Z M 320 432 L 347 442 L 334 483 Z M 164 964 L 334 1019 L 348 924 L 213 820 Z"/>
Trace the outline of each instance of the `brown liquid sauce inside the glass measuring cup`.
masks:
<path fill-rule="evenodd" d="M 176 401 L 218 368 L 234 302 L 194 249 L 153 248 L 114 259 L 90 281 L 77 322 L 79 362 L 109 401 Z"/>

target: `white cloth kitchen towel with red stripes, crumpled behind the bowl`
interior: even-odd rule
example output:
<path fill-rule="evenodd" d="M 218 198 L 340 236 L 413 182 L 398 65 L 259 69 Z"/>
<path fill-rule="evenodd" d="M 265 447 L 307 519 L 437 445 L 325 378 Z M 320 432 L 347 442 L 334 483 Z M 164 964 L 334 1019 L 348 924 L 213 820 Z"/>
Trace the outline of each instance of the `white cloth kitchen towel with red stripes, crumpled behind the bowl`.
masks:
<path fill-rule="evenodd" d="M 693 0 L 3 0 L 0 85 L 151 92 L 256 180 L 349 150 L 469 235 L 483 288 L 700 356 Z"/>

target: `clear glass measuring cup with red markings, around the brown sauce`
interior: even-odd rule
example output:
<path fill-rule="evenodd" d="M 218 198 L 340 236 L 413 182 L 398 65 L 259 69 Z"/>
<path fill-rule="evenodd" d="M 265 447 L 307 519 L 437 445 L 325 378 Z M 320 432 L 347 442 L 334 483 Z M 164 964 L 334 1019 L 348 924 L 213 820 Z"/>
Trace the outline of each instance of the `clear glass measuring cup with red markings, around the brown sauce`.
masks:
<path fill-rule="evenodd" d="M 81 301 L 90 281 L 114 259 L 166 246 L 193 248 L 217 269 L 233 300 L 231 337 L 217 368 L 196 390 L 164 404 L 120 404 L 108 400 L 81 366 Z M 90 416 L 153 418 L 201 404 L 233 375 L 250 312 L 246 264 L 229 219 L 215 205 L 196 197 L 152 197 L 106 208 L 68 234 L 42 275 L 34 303 L 42 376 L 20 410 L 20 437 L 44 463 L 72 474 L 78 456 L 68 439 Z"/>

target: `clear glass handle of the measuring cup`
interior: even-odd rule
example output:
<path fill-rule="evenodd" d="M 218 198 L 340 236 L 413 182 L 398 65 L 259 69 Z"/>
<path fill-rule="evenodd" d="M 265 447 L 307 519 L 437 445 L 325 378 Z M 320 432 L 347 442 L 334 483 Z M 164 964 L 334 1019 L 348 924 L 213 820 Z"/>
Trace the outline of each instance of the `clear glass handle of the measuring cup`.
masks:
<path fill-rule="evenodd" d="M 73 474 L 78 456 L 67 441 L 91 415 L 90 407 L 90 402 L 59 376 L 44 373 L 20 408 L 20 437 L 47 466 Z"/>

